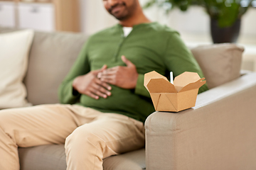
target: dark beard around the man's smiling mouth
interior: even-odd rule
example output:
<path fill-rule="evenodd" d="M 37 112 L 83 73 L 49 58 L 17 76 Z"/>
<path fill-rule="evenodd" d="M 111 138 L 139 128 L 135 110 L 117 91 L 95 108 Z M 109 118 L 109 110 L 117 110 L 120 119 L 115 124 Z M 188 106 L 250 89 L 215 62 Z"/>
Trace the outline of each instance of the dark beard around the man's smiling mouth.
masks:
<path fill-rule="evenodd" d="M 114 18 L 117 18 L 119 21 L 124 21 L 130 16 L 132 16 L 133 11 L 136 8 L 136 3 L 132 4 L 132 6 L 127 6 L 124 2 L 119 2 L 118 4 L 115 4 L 114 6 L 111 6 L 107 11 L 114 16 Z"/>

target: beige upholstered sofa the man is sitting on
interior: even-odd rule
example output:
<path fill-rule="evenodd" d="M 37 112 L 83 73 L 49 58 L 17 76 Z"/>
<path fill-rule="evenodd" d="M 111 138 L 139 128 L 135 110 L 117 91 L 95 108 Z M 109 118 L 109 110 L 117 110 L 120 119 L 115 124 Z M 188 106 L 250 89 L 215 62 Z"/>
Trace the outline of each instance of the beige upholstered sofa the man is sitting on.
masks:
<path fill-rule="evenodd" d="M 9 31 L 0 28 L 0 33 Z M 58 103 L 58 85 L 85 40 L 82 34 L 35 33 L 24 79 L 28 102 Z M 142 148 L 104 159 L 105 170 L 256 169 L 256 73 L 240 76 L 239 68 L 230 66 L 235 59 L 239 63 L 242 54 L 242 48 L 235 45 L 192 51 L 212 89 L 199 94 L 196 106 L 186 111 L 152 113 L 145 122 L 146 152 Z M 220 58 L 200 59 L 208 53 Z M 211 70 L 214 62 L 219 62 L 219 67 Z M 218 74 L 220 71 L 223 74 Z M 66 168 L 64 145 L 19 148 L 18 152 L 21 170 Z"/>

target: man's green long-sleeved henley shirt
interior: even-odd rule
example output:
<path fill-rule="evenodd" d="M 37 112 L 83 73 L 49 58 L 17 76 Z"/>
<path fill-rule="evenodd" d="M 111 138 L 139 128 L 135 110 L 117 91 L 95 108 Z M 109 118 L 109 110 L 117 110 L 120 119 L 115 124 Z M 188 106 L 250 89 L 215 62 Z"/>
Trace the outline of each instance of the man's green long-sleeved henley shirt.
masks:
<path fill-rule="evenodd" d="M 98 100 L 89 96 L 73 95 L 73 80 L 90 70 L 125 66 L 124 55 L 137 67 L 139 78 L 135 89 L 122 89 L 112 86 L 112 95 Z M 174 72 L 174 77 L 183 72 L 203 73 L 191 51 L 184 45 L 179 34 L 159 23 L 142 23 L 134 26 L 124 38 L 122 26 L 102 30 L 92 35 L 82 48 L 78 59 L 59 88 L 61 103 L 79 104 L 95 108 L 104 113 L 119 113 L 144 122 L 154 112 L 149 92 L 144 87 L 144 74 L 155 70 L 163 75 Z M 202 86 L 199 92 L 206 91 Z"/>

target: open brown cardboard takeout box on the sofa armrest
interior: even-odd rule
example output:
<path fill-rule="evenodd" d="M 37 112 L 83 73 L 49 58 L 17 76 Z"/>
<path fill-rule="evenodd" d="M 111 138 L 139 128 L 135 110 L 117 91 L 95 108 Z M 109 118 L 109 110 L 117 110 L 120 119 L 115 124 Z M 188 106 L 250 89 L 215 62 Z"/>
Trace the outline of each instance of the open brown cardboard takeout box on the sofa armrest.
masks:
<path fill-rule="evenodd" d="M 183 72 L 171 84 L 153 71 L 144 75 L 144 86 L 149 91 L 156 111 L 178 112 L 196 105 L 198 89 L 206 84 L 195 72 Z"/>

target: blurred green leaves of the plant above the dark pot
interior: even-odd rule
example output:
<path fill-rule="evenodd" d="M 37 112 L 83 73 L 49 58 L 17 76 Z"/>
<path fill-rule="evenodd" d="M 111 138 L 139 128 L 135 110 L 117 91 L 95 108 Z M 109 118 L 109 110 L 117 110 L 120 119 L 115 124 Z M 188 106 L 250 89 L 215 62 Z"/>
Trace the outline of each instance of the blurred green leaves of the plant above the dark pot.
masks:
<path fill-rule="evenodd" d="M 172 8 L 186 11 L 192 4 L 203 6 L 210 18 L 218 20 L 218 26 L 225 28 L 232 26 L 237 19 L 240 19 L 252 6 L 252 1 L 255 0 L 149 0 L 144 8 L 156 5 L 169 13 Z"/>

